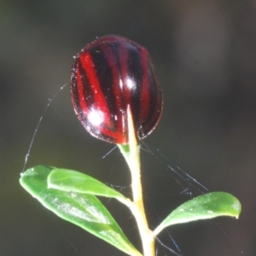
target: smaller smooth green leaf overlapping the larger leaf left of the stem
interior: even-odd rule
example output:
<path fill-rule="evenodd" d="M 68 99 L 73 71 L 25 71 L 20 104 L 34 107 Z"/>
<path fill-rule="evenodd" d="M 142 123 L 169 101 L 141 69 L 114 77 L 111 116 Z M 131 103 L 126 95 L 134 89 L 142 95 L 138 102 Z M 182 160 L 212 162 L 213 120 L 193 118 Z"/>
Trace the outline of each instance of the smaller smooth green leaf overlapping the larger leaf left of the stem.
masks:
<path fill-rule="evenodd" d="M 112 197 L 121 201 L 128 207 L 131 204 L 131 201 L 115 189 L 109 188 L 106 184 L 98 181 L 96 178 L 90 177 L 82 172 L 67 169 L 55 169 L 50 172 L 47 182 L 48 188 L 50 189 Z"/>

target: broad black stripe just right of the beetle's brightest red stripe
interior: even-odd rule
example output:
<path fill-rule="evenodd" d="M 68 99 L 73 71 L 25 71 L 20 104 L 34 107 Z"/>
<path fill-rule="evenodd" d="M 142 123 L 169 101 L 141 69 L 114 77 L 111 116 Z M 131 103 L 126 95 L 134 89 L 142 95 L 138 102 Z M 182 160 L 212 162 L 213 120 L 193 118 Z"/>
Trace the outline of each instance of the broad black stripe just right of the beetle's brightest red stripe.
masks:
<path fill-rule="evenodd" d="M 111 46 L 111 44 L 108 43 L 108 46 Z M 102 93 L 108 103 L 108 110 L 109 113 L 111 113 L 111 119 L 113 123 L 116 123 L 114 116 L 118 114 L 118 111 L 116 106 L 116 96 L 114 96 L 113 91 L 113 73 L 110 65 L 108 64 L 108 56 L 98 45 L 90 49 L 90 56 L 95 65 L 96 75 L 100 83 Z M 116 127 L 108 128 L 114 129 Z"/>

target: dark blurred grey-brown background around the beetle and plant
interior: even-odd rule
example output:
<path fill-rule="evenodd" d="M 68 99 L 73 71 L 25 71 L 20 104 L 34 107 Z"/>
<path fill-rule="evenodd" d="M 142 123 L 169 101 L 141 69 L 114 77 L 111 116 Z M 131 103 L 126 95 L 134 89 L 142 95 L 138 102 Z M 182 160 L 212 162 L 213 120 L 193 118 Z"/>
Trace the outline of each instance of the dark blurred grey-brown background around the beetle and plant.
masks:
<path fill-rule="evenodd" d="M 73 55 L 107 34 L 143 44 L 154 60 L 165 108 L 145 143 L 210 191 L 241 200 L 239 220 L 180 224 L 160 240 L 177 251 L 172 236 L 184 256 L 256 255 L 253 0 L 0 1 L 0 255 L 125 255 L 56 218 L 19 184 L 38 119 L 49 98 L 68 83 Z M 26 168 L 67 167 L 123 189 L 130 177 L 118 150 L 102 159 L 112 148 L 84 131 L 67 85 L 44 115 Z M 147 153 L 142 158 L 148 218 L 155 227 L 159 217 L 198 191 L 189 182 L 184 195 L 166 163 L 161 166 Z M 140 247 L 131 213 L 106 203 Z M 174 254 L 159 245 L 158 255 Z"/>

